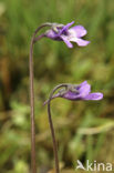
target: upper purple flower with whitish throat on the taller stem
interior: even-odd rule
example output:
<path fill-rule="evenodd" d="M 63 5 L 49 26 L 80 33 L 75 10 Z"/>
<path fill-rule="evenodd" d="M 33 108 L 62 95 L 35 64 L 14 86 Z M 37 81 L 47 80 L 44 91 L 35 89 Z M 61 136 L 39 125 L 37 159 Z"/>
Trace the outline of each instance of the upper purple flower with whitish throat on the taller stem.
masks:
<path fill-rule="evenodd" d="M 52 29 L 45 32 L 45 37 L 52 40 L 64 41 L 69 48 L 73 48 L 71 42 L 76 42 L 80 47 L 87 45 L 90 41 L 82 39 L 87 31 L 83 26 L 74 26 L 70 28 L 73 23 L 74 21 L 68 23 L 66 26 L 53 23 Z"/>

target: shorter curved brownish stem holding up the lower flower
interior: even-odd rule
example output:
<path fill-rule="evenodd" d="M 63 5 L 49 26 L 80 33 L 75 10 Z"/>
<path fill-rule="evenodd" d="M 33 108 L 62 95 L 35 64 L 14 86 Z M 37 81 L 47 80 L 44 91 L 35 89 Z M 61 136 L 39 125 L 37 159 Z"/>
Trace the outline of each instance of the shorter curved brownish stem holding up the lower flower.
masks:
<path fill-rule="evenodd" d="M 58 145 L 56 145 L 56 140 L 55 140 L 55 132 L 54 132 L 52 116 L 51 116 L 51 100 L 52 100 L 53 93 L 62 86 L 68 86 L 68 84 L 56 85 L 52 90 L 52 92 L 49 96 L 49 100 L 48 100 L 48 115 L 49 115 L 49 123 L 50 123 L 51 135 L 52 135 L 52 141 L 53 141 L 53 152 L 54 152 L 54 157 L 55 157 L 55 173 L 60 173 L 60 169 L 59 169 L 59 157 L 58 157 Z"/>

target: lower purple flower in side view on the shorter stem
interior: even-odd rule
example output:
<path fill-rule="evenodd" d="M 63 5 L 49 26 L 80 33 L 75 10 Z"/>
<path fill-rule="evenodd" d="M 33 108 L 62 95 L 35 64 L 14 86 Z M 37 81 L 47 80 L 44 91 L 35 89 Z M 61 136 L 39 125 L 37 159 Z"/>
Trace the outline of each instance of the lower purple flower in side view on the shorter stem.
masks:
<path fill-rule="evenodd" d="M 54 98 L 63 98 L 66 100 L 72 100 L 72 101 L 102 100 L 103 93 L 101 93 L 101 92 L 91 93 L 91 85 L 86 81 L 84 81 L 77 85 L 76 84 L 68 84 L 66 89 L 61 89 L 56 94 L 54 94 L 52 96 L 52 99 L 54 99 Z"/>

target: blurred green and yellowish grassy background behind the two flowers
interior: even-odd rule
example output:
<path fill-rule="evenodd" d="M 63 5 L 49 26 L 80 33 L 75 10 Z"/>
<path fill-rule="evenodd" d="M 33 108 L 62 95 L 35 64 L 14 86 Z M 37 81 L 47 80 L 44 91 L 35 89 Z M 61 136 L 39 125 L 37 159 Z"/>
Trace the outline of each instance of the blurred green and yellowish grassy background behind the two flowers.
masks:
<path fill-rule="evenodd" d="M 102 101 L 52 102 L 63 170 L 76 160 L 114 164 L 114 0 L 0 0 L 0 173 L 30 169 L 29 47 L 43 22 L 75 21 L 87 30 L 85 48 L 42 39 L 34 45 L 37 166 L 54 165 L 46 106 L 59 83 L 87 80 Z M 66 171 L 64 171 L 66 172 Z"/>

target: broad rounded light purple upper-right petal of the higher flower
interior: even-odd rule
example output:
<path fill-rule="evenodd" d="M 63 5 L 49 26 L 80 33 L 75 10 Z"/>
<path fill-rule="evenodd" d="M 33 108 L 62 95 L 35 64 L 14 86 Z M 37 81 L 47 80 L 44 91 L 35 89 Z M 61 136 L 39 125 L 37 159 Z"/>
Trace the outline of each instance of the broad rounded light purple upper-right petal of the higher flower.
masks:
<path fill-rule="evenodd" d="M 72 27 L 71 29 L 70 29 L 70 31 L 72 32 L 75 32 L 75 37 L 77 37 L 77 38 L 81 38 L 81 37 L 84 37 L 86 33 L 87 33 L 87 31 L 85 30 L 85 28 L 83 27 L 83 26 L 75 26 L 75 27 Z"/>

